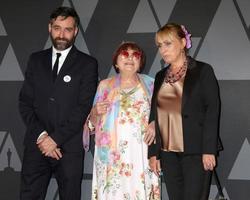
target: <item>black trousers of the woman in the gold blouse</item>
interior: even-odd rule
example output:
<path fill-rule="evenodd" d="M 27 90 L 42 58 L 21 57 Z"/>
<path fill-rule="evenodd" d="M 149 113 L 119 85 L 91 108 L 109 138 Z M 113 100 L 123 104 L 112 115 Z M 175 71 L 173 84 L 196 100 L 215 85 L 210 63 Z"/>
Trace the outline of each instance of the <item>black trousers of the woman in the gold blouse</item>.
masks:
<path fill-rule="evenodd" d="M 211 172 L 204 170 L 201 155 L 162 151 L 161 168 L 169 200 L 201 200 L 204 194 L 207 198 Z"/>

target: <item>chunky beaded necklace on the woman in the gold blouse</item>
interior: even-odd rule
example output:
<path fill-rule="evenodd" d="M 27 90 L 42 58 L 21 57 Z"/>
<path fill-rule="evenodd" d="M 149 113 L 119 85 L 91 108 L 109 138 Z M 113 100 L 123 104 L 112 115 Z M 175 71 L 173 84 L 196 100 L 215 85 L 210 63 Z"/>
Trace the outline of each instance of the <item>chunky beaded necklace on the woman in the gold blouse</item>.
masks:
<path fill-rule="evenodd" d="M 181 79 L 181 77 L 183 77 L 186 71 L 187 71 L 187 60 L 184 61 L 183 65 L 179 68 L 177 72 L 173 72 L 171 67 L 169 67 L 167 69 L 165 82 L 170 84 L 177 82 L 178 80 Z"/>

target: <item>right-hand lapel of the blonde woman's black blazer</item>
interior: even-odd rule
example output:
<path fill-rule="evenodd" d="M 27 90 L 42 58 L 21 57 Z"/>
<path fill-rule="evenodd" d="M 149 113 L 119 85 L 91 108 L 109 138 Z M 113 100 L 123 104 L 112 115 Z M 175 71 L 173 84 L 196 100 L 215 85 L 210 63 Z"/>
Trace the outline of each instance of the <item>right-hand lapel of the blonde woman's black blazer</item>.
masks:
<path fill-rule="evenodd" d="M 199 70 L 197 70 L 196 61 L 191 57 L 188 57 L 188 61 L 187 72 L 183 85 L 182 110 L 185 107 L 199 76 Z"/>

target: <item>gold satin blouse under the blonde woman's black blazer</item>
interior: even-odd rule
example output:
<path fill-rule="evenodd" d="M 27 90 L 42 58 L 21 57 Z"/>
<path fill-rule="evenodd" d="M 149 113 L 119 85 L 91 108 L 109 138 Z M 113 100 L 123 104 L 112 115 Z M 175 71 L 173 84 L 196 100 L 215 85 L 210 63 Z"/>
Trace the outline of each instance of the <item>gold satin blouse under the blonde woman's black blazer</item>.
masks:
<path fill-rule="evenodd" d="M 171 84 L 164 81 L 157 96 L 158 122 L 163 151 L 184 151 L 181 118 L 184 77 Z"/>

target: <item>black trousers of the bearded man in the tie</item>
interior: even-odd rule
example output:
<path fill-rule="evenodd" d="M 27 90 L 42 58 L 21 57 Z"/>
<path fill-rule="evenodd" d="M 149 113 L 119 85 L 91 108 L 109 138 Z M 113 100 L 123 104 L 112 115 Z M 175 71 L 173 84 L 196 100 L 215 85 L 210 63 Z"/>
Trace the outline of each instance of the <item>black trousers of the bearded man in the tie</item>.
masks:
<path fill-rule="evenodd" d="M 20 200 L 44 200 L 54 174 L 60 200 L 80 200 L 83 176 L 83 152 L 63 152 L 57 161 L 36 149 L 25 149 L 21 171 Z"/>

